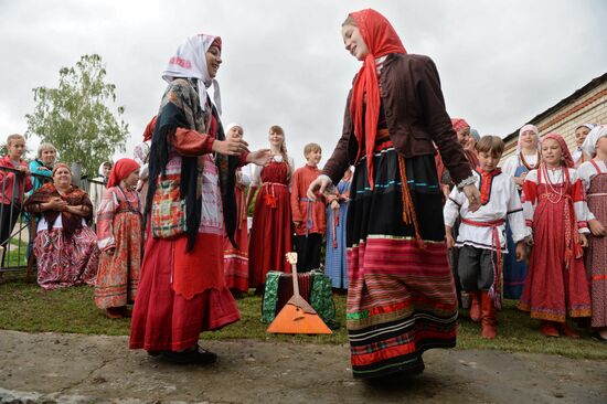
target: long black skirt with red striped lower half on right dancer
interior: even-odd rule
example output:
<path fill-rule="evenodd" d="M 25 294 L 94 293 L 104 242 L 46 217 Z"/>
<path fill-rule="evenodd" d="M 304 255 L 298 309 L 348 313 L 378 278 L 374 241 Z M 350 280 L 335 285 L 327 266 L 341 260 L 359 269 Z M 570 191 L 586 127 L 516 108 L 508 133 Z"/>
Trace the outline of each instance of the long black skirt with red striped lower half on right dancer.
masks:
<path fill-rule="evenodd" d="M 405 160 L 420 248 L 403 222 L 398 156 L 390 147 L 355 168 L 348 212 L 347 327 L 354 378 L 423 369 L 422 353 L 456 344 L 457 299 L 444 242 L 443 204 L 433 156 Z"/>

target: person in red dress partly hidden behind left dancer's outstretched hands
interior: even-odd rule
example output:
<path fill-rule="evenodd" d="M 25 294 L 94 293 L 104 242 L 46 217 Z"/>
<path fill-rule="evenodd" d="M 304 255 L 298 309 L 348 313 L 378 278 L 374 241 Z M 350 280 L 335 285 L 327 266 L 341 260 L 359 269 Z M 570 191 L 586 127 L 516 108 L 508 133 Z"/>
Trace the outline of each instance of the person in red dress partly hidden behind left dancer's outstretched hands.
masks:
<path fill-rule="evenodd" d="M 242 139 L 243 126 L 230 124 L 225 129 L 227 139 Z M 248 290 L 248 226 L 246 209 L 246 187 L 251 184 L 251 178 L 238 167 L 236 169 L 236 231 L 233 245 L 230 238 L 225 237 L 223 252 L 223 270 L 225 284 L 233 295 L 244 294 Z"/>

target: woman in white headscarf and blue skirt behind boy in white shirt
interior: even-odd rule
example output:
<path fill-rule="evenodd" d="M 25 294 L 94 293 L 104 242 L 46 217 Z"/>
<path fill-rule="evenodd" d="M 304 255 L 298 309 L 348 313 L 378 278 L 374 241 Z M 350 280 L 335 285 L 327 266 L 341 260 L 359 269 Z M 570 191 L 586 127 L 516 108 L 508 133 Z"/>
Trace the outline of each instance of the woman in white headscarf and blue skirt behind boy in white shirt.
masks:
<path fill-rule="evenodd" d="M 502 171 L 512 177 L 519 194 L 523 189 L 523 182 L 530 170 L 536 169 L 540 164 L 540 131 L 534 125 L 526 124 L 519 130 L 517 152 L 505 159 Z M 505 226 L 508 251 L 515 248 L 510 227 Z M 523 285 L 526 276 L 526 262 L 517 261 L 514 254 L 507 254 L 503 265 L 503 297 L 507 299 L 520 299 L 523 293 Z"/>

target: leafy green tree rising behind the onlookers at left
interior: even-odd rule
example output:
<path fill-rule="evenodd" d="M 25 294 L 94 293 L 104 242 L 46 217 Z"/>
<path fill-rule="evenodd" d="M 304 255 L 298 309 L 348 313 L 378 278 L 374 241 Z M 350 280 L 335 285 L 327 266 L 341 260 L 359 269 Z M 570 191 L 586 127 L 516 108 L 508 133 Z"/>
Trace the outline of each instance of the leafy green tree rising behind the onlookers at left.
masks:
<path fill-rule="evenodd" d="M 35 135 L 53 143 L 67 163 L 79 162 L 94 176 L 103 161 L 125 151 L 129 135 L 116 103 L 116 85 L 105 83 L 106 70 L 97 54 L 84 55 L 73 67 L 60 70 L 57 88 L 34 88 L 35 108 L 25 115 L 25 137 Z"/>

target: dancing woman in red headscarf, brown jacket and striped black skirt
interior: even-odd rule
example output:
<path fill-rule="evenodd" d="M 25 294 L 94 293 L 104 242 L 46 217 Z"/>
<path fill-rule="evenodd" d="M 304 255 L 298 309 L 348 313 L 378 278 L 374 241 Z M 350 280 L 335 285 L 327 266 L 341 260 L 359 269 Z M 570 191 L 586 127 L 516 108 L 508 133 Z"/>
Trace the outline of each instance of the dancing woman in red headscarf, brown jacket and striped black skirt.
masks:
<path fill-rule="evenodd" d="M 457 300 L 433 141 L 472 210 L 480 196 L 433 61 L 407 54 L 374 10 L 351 13 L 342 36 L 363 65 L 348 96 L 342 137 L 308 195 L 355 166 L 347 220 L 354 376 L 418 373 L 425 350 L 456 344 Z"/>

